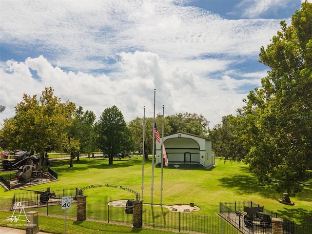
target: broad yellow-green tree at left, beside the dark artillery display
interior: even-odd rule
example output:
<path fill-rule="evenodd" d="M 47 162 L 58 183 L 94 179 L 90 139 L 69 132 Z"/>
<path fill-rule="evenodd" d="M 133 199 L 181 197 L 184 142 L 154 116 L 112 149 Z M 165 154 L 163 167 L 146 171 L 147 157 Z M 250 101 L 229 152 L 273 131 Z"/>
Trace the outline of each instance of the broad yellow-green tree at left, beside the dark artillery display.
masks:
<path fill-rule="evenodd" d="M 62 103 L 51 87 L 45 88 L 39 100 L 36 95 L 24 94 L 15 107 L 16 115 L 4 120 L 2 136 L 10 142 L 10 149 L 29 150 L 46 157 L 48 152 L 61 150 L 74 110 L 75 105 Z"/>

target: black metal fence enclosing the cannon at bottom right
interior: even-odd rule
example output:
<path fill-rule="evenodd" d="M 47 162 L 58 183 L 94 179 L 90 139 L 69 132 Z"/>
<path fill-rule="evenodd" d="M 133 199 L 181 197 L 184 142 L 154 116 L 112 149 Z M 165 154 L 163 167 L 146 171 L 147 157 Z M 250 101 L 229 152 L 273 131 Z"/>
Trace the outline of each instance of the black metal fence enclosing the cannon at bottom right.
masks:
<path fill-rule="evenodd" d="M 254 234 L 254 230 L 250 228 L 246 228 L 245 225 L 241 225 L 243 223 L 243 219 L 236 215 L 236 211 L 244 210 L 244 207 L 262 207 L 252 201 L 241 201 L 241 202 L 220 202 L 219 205 L 219 214 L 226 218 L 232 225 L 234 225 L 239 230 L 242 230 L 242 233 L 246 234 Z M 263 208 L 263 213 L 271 215 L 275 218 L 283 219 L 283 234 L 311 234 L 312 227 L 301 227 L 294 223 L 292 220 L 285 218 L 277 213 L 273 213 L 273 211 L 269 211 Z M 258 225 L 253 225 L 258 227 Z M 261 225 L 264 227 L 269 227 L 270 225 Z"/>

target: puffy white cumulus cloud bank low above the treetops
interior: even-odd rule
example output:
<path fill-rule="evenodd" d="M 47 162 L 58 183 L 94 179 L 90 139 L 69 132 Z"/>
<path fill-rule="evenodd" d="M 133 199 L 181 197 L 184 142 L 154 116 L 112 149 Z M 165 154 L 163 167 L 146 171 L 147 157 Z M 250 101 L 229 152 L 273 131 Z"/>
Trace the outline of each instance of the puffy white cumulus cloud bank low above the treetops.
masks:
<path fill-rule="evenodd" d="M 147 116 L 152 117 L 154 88 L 156 113 L 165 105 L 166 115 L 198 113 L 212 124 L 219 121 L 219 115 L 234 114 L 244 97 L 233 91 L 242 81 L 232 79 L 233 88 L 225 90 L 225 79 L 196 76 L 178 64 L 168 65 L 153 53 L 121 53 L 120 56 L 120 77 L 128 76 L 127 79 L 65 72 L 43 56 L 24 62 L 8 61 L 0 70 L 1 93 L 6 92 L 1 95 L 1 101 L 8 107 L 1 117 L 14 115 L 13 106 L 22 100 L 23 93 L 39 97 L 45 87 L 54 88 L 62 101 L 69 99 L 84 110 L 93 111 L 97 117 L 105 108 L 116 105 L 127 121 L 141 117 L 143 106 Z M 39 79 L 32 77 L 29 69 L 37 71 Z"/>

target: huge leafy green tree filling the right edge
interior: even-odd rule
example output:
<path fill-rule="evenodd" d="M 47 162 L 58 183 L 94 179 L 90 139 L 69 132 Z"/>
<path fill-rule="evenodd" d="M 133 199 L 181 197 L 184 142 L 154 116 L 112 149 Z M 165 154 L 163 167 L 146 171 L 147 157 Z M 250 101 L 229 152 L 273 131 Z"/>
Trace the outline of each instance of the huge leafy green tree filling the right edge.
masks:
<path fill-rule="evenodd" d="M 259 179 L 294 194 L 312 169 L 312 3 L 302 3 L 290 26 L 281 21 L 260 62 L 271 69 L 263 88 L 248 95 L 236 126 Z"/>

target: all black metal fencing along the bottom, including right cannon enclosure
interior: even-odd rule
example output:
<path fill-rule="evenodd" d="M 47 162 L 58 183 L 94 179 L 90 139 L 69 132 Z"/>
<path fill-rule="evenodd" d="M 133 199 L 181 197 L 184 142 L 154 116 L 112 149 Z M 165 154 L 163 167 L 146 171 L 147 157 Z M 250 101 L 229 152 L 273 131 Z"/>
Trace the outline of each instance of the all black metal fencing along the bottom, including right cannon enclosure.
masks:
<path fill-rule="evenodd" d="M 77 203 L 74 199 L 77 195 L 83 195 L 86 189 L 99 187 L 88 186 L 82 189 L 61 189 L 53 191 L 55 196 L 48 202 L 40 202 L 40 194 L 26 192 L 15 194 L 13 198 L 0 197 L 0 210 L 19 211 L 22 208 L 25 212 L 38 211 L 39 215 L 63 216 L 61 209 L 61 197 L 72 196 L 72 206 L 66 210 L 68 217 L 77 216 Z M 44 191 L 43 191 L 44 192 Z M 114 200 L 112 197 L 103 197 L 97 202 L 87 202 L 87 219 L 108 223 L 132 224 L 133 214 L 126 214 L 126 200 Z M 253 202 L 223 202 L 220 203 L 219 215 L 196 215 L 192 213 L 172 212 L 167 209 L 155 211 L 150 207 L 142 210 L 142 225 L 145 228 L 171 230 L 175 232 L 193 232 L 209 234 L 272 234 L 272 224 L 254 222 L 251 226 L 246 226 L 244 218 L 237 216 L 235 211 L 243 210 L 244 207 L 259 207 Z M 263 208 L 263 213 L 283 218 L 280 215 Z M 300 227 L 292 221 L 283 218 L 283 234 L 311 234 L 311 228 Z"/>

